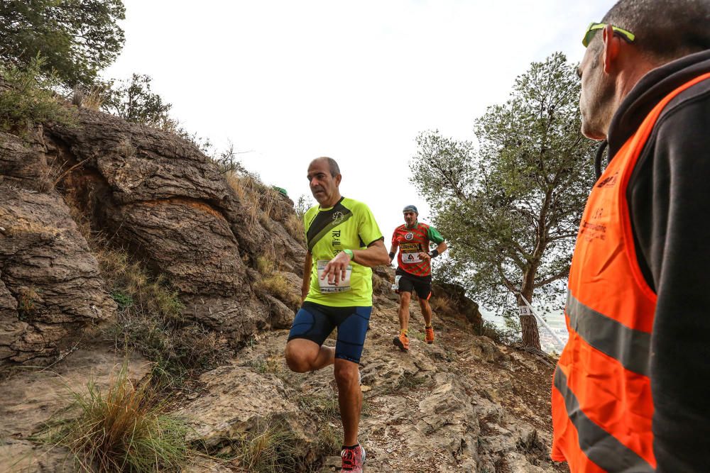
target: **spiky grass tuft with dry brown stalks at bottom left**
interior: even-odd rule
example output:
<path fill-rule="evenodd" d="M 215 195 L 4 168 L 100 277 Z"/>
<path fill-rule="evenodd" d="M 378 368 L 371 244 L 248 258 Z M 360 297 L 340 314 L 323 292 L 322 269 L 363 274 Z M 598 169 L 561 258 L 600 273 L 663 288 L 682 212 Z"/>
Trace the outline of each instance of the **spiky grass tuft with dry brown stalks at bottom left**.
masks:
<path fill-rule="evenodd" d="M 84 471 L 179 471 L 189 452 L 187 425 L 151 386 L 134 386 L 124 364 L 107 389 L 90 381 L 86 392 L 72 392 L 42 440 L 68 447 Z"/>

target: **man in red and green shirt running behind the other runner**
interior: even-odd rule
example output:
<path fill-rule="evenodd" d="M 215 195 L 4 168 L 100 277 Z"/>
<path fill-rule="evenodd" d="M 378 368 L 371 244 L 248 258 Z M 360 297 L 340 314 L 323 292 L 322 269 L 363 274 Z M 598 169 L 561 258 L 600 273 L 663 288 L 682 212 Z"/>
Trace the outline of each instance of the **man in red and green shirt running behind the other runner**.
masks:
<path fill-rule="evenodd" d="M 400 295 L 400 334 L 394 344 L 400 350 L 409 350 L 407 330 L 409 326 L 409 301 L 413 291 L 417 292 L 419 305 L 425 321 L 427 343 L 434 343 L 434 328 L 432 328 L 432 308 L 429 298 L 432 295 L 432 265 L 431 260 L 446 251 L 447 244 L 436 228 L 417 221 L 419 212 L 413 205 L 403 209 L 404 225 L 395 228 L 390 247 L 390 264 L 395 252 L 399 249 L 397 271 L 395 272 L 395 287 Z M 430 243 L 437 245 L 430 251 Z"/>

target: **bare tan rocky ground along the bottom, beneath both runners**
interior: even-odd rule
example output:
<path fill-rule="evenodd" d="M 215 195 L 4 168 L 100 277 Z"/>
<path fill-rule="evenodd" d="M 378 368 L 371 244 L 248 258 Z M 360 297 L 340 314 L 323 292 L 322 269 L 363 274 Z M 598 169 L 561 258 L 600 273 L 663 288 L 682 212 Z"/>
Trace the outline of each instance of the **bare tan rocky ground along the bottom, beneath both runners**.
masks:
<path fill-rule="evenodd" d="M 412 311 L 410 352 L 401 352 L 392 344 L 396 309 L 393 295 L 376 298 L 361 364 L 366 471 L 568 471 L 548 457 L 550 385 L 545 380 L 552 367 L 547 362 L 471 335 L 466 323 L 436 312 L 437 340 L 427 345 L 420 340 L 418 307 Z M 189 471 L 252 471 L 218 459 L 230 457 L 253 433 L 284 425 L 289 435 L 276 448 L 292 455 L 295 471 L 339 471 L 342 427 L 332 368 L 290 372 L 283 361 L 287 337 L 288 330 L 256 335 L 181 397 L 176 410 L 190 422 L 192 443 L 211 455 L 197 457 Z M 66 389 L 81 389 L 92 376 L 107 383 L 121 356 L 111 347 L 84 347 L 39 375 L 23 370 L 1 382 L 0 471 L 73 471 L 65 450 L 47 450 L 29 441 L 29 434 L 65 405 Z M 130 366 L 136 379 L 148 372 L 141 357 L 133 356 Z"/>

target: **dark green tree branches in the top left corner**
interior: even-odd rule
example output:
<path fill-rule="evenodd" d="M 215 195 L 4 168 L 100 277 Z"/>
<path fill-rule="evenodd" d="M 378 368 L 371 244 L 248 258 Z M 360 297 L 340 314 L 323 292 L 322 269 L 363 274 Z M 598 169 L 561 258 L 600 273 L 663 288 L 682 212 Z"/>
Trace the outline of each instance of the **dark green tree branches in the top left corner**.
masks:
<path fill-rule="evenodd" d="M 45 74 L 89 87 L 123 48 L 124 18 L 121 0 L 0 1 L 0 60 L 30 65 L 41 54 Z"/>

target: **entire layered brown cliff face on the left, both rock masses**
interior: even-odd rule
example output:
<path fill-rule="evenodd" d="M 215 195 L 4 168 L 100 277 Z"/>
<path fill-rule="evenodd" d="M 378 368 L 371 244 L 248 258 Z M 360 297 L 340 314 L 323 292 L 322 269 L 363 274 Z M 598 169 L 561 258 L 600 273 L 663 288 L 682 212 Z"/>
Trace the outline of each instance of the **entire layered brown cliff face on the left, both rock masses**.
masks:
<path fill-rule="evenodd" d="M 275 199 L 254 218 L 263 209 L 245 206 L 194 145 L 77 113 L 76 128 L 0 134 L 0 360 L 57 355 L 77 330 L 115 311 L 67 202 L 111 246 L 164 274 L 187 316 L 234 342 L 288 323 L 292 310 L 254 284 L 267 248 L 286 270 L 305 255 L 283 228 L 292 202 Z"/>

